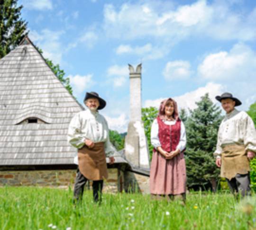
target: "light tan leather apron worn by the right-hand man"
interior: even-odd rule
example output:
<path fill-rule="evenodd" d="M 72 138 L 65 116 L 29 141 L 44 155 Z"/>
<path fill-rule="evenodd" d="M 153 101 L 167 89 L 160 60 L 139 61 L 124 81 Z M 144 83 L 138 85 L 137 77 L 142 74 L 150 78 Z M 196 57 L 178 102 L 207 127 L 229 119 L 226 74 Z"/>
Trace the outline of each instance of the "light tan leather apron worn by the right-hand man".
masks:
<path fill-rule="evenodd" d="M 247 174 L 250 171 L 250 162 L 244 145 L 230 144 L 223 148 L 221 153 L 220 176 L 231 180 L 237 174 Z"/>

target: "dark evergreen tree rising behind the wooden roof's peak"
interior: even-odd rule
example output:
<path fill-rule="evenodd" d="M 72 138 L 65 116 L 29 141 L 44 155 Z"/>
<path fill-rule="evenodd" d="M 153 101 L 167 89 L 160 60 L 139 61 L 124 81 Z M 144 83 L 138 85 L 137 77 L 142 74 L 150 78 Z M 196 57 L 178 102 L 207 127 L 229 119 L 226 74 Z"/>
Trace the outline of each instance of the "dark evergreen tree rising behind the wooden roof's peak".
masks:
<path fill-rule="evenodd" d="M 18 0 L 0 0 L 0 58 L 13 50 L 27 35 L 27 22 L 20 17 Z"/>

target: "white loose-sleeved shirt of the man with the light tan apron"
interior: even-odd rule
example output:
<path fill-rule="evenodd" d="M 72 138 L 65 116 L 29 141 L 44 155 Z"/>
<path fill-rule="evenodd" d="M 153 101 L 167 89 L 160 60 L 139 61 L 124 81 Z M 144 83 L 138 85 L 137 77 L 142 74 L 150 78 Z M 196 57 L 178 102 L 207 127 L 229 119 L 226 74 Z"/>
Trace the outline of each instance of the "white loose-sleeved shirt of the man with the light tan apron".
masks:
<path fill-rule="evenodd" d="M 256 152 L 255 126 L 246 112 L 234 109 L 226 114 L 219 126 L 217 147 L 213 154 L 220 157 L 222 148 L 228 144 L 243 144 L 246 150 Z"/>

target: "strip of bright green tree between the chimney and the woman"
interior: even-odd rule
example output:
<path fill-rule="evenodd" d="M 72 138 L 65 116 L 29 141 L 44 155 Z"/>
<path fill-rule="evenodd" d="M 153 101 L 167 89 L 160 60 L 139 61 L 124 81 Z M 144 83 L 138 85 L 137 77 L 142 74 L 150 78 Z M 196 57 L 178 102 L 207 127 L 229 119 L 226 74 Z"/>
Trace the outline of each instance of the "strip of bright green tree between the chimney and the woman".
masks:
<path fill-rule="evenodd" d="M 144 122 L 144 129 L 145 129 L 145 135 L 147 139 L 150 159 L 152 158 L 152 153 L 154 149 L 150 141 L 151 126 L 154 119 L 157 117 L 157 114 L 158 114 L 158 109 L 156 107 L 142 108 L 141 110 L 141 115 L 142 115 L 141 119 Z"/>

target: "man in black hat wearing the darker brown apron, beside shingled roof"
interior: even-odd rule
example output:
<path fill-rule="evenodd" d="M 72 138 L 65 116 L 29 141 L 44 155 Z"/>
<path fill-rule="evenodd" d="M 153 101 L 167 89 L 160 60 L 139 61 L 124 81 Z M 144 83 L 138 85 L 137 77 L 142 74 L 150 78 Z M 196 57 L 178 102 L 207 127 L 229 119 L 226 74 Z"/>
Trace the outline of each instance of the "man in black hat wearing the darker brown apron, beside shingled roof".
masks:
<path fill-rule="evenodd" d="M 95 92 L 87 92 L 84 104 L 88 109 L 76 114 L 68 129 L 68 141 L 78 149 L 74 159 L 78 164 L 74 201 L 82 200 L 84 186 L 92 180 L 93 199 L 98 202 L 101 201 L 103 179 L 108 177 L 106 156 L 113 164 L 116 150 L 110 143 L 107 121 L 98 112 L 106 106 L 106 101 Z"/>

